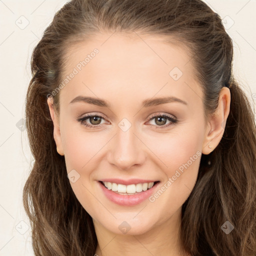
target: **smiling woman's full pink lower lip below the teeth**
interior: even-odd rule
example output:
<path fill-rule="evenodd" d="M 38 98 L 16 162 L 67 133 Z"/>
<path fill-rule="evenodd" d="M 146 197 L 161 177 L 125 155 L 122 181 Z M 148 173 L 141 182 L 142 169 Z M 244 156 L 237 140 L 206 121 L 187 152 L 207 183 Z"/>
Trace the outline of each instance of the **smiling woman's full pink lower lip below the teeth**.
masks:
<path fill-rule="evenodd" d="M 148 198 L 156 189 L 159 182 L 154 184 L 150 189 L 147 189 L 146 191 L 141 191 L 136 194 L 131 195 L 124 195 L 124 194 L 118 194 L 112 191 L 111 189 L 106 188 L 101 182 L 99 182 L 99 185 L 105 194 L 105 196 L 112 202 L 119 204 L 119 205 L 135 205 L 139 204 L 140 202 L 144 201 L 146 198 Z"/>

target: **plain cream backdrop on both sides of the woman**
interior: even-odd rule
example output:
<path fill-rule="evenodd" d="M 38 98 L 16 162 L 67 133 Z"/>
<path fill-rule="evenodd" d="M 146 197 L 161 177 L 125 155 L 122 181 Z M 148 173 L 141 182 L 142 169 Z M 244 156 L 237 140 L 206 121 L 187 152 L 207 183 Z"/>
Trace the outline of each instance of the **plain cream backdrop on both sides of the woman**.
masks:
<path fill-rule="evenodd" d="M 0 0 L 0 255 L 33 255 L 22 189 L 31 169 L 23 123 L 30 57 L 64 0 Z M 207 0 L 233 39 L 234 74 L 256 102 L 256 0 Z"/>

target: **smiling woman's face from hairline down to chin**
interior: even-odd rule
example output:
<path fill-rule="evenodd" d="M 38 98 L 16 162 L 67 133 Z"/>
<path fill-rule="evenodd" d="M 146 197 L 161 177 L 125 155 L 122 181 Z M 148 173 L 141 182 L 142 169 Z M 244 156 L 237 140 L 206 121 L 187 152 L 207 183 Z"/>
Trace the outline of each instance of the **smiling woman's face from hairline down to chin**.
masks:
<path fill-rule="evenodd" d="M 203 94 L 186 50 L 152 35 L 114 33 L 67 55 L 54 139 L 77 199 L 115 233 L 142 234 L 167 223 L 180 214 L 201 153 L 210 150 Z M 118 194 L 100 181 L 142 191 Z"/>

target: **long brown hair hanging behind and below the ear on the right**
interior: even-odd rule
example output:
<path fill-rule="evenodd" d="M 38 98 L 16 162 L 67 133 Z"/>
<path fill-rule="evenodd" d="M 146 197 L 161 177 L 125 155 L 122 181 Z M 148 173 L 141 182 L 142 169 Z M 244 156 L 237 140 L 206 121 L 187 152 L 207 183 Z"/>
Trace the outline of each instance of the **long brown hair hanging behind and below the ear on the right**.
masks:
<path fill-rule="evenodd" d="M 182 239 L 196 256 L 256 255 L 256 125 L 238 83 L 233 80 L 229 88 L 224 134 L 210 154 L 202 155 L 197 182 L 182 206 Z M 223 224 L 233 229 L 227 234 Z"/>

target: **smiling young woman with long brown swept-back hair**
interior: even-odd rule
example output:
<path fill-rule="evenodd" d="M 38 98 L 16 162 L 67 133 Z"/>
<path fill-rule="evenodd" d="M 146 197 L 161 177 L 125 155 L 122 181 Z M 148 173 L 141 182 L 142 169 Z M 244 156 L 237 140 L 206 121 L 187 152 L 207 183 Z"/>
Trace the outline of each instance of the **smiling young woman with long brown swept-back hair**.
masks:
<path fill-rule="evenodd" d="M 256 127 L 200 0 L 71 0 L 33 50 L 36 256 L 256 255 Z"/>

